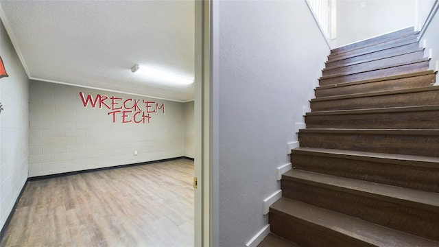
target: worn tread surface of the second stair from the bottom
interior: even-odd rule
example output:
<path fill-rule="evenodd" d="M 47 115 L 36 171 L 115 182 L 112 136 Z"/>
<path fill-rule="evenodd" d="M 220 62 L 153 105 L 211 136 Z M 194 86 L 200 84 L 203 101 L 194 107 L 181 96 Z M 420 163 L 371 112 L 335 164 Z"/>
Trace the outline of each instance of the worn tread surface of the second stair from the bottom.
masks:
<path fill-rule="evenodd" d="M 337 191 L 355 193 L 388 202 L 410 205 L 418 209 L 439 212 L 439 193 L 418 191 L 392 185 L 383 185 L 364 180 L 342 178 L 300 169 L 291 169 L 282 175 L 285 180 L 300 180 L 302 183 Z"/>

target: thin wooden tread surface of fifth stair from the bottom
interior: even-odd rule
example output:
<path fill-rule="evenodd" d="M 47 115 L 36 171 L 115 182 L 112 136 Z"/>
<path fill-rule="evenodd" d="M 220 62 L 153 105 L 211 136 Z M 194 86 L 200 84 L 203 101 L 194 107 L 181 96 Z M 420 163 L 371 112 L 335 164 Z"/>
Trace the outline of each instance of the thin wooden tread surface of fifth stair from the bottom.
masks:
<path fill-rule="evenodd" d="M 431 106 L 401 106 L 388 108 L 367 108 L 351 110 L 324 110 L 318 112 L 306 113 L 306 116 L 321 115 L 349 115 L 349 114 L 369 114 L 369 113 L 401 113 L 401 112 L 420 112 L 424 110 L 439 110 L 439 105 Z"/>

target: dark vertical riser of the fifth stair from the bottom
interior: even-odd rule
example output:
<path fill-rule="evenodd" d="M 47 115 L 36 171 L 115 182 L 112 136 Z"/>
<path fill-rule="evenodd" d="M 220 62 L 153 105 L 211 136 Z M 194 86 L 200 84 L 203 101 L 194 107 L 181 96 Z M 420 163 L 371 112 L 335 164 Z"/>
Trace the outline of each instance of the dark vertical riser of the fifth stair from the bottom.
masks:
<path fill-rule="evenodd" d="M 439 110 L 305 116 L 307 128 L 439 129 Z"/>

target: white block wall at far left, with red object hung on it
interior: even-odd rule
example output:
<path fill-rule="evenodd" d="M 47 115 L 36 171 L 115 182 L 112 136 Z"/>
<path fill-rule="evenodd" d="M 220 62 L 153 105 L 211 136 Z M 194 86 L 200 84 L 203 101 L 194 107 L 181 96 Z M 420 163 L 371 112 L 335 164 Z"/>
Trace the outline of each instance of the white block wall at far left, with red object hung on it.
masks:
<path fill-rule="evenodd" d="M 0 79 L 0 228 L 27 180 L 29 80 L 3 23 L 0 21 L 0 56 L 9 77 Z"/>

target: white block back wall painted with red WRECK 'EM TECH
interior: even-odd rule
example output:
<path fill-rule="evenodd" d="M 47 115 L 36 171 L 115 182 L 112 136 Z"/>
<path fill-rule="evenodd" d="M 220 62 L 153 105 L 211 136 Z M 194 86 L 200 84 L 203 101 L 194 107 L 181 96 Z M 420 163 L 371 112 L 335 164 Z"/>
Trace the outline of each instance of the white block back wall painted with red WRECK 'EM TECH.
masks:
<path fill-rule="evenodd" d="M 29 177 L 185 156 L 183 103 L 33 80 L 30 92 Z M 120 113 L 113 123 L 112 110 L 85 108 L 80 92 L 158 102 L 165 114 L 152 113 L 150 124 L 122 124 Z"/>

